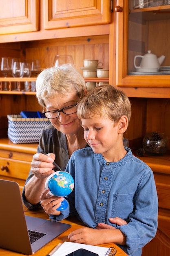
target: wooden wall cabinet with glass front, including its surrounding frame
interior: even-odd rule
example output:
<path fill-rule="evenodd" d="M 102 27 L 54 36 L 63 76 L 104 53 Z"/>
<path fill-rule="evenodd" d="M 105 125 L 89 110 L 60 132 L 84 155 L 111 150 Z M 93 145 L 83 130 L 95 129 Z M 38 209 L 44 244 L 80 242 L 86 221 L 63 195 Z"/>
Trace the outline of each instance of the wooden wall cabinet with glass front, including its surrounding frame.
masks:
<path fill-rule="evenodd" d="M 112 24 L 114 37 L 110 42 L 110 47 L 113 47 L 110 48 L 113 56 L 110 64 L 113 61 L 115 74 L 111 74 L 110 81 L 118 87 L 126 88 L 129 96 L 144 97 L 145 91 L 146 97 L 150 97 L 153 91 L 151 88 L 158 88 L 154 90 L 153 97 L 170 97 L 170 69 L 169 74 L 150 72 L 151 75 L 143 75 L 142 72 L 139 74 L 142 70 L 134 67 L 135 56 L 144 56 L 148 50 L 157 57 L 166 56 L 162 65 L 170 66 L 170 33 L 167 33 L 170 30 L 170 5 L 135 8 L 134 3 L 133 0 L 115 1 L 115 26 Z M 141 59 L 137 61 L 140 65 Z"/>

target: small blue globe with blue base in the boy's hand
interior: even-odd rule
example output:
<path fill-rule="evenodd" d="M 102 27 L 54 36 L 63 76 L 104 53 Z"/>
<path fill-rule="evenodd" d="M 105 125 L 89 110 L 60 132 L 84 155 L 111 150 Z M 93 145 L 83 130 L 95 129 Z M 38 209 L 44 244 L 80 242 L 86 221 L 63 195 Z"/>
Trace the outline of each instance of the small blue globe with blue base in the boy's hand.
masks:
<path fill-rule="evenodd" d="M 66 185 L 67 187 L 72 185 L 70 191 L 68 190 L 64 190 L 63 188 L 63 191 L 61 192 L 60 189 L 58 189 L 58 184 L 57 184 L 57 179 L 60 180 L 60 177 L 62 177 L 62 175 L 65 177 L 67 176 L 67 180 L 66 180 Z M 51 185 L 51 182 L 54 181 L 56 179 L 56 186 L 54 185 Z M 54 183 L 55 184 L 55 183 Z M 51 188 L 52 187 L 52 188 Z M 74 188 L 74 180 L 73 180 L 73 177 L 71 176 L 71 174 L 65 172 L 65 171 L 56 171 L 55 173 L 52 173 L 47 179 L 46 179 L 46 182 L 45 182 L 45 189 L 50 189 L 50 191 L 48 192 L 50 195 L 56 195 L 58 197 L 65 197 L 67 195 L 69 195 L 72 191 L 73 191 L 73 188 Z M 64 199 L 62 202 L 61 202 L 61 205 L 60 207 L 58 207 L 56 209 L 56 211 L 63 211 L 65 210 L 66 208 L 68 207 L 68 202 Z"/>

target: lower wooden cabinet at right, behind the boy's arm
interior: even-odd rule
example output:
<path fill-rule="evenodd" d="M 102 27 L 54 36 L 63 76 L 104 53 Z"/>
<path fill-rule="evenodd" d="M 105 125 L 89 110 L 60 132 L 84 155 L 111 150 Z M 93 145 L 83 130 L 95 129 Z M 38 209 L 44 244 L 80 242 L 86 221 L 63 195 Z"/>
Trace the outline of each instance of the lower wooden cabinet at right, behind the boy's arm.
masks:
<path fill-rule="evenodd" d="M 170 254 L 170 152 L 163 156 L 139 157 L 154 172 L 158 193 L 159 213 L 158 230 L 153 238 L 142 249 L 142 256 Z"/>

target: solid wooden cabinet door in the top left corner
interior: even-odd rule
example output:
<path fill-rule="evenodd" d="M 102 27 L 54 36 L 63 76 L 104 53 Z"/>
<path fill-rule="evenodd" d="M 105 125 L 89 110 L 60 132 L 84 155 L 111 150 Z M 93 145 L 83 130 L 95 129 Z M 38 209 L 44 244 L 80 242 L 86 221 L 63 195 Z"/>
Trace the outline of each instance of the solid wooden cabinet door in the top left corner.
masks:
<path fill-rule="evenodd" d="M 0 34 L 39 30 L 39 0 L 0 0 Z"/>

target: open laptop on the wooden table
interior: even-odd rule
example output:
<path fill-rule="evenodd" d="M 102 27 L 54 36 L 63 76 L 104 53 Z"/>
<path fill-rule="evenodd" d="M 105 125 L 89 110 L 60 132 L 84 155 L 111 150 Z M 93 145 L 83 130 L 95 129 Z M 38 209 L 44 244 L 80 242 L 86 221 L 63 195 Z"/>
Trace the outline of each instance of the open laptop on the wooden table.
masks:
<path fill-rule="evenodd" d="M 34 254 L 71 227 L 25 216 L 19 184 L 14 181 L 0 180 L 0 208 L 0 247 L 22 254 Z"/>

